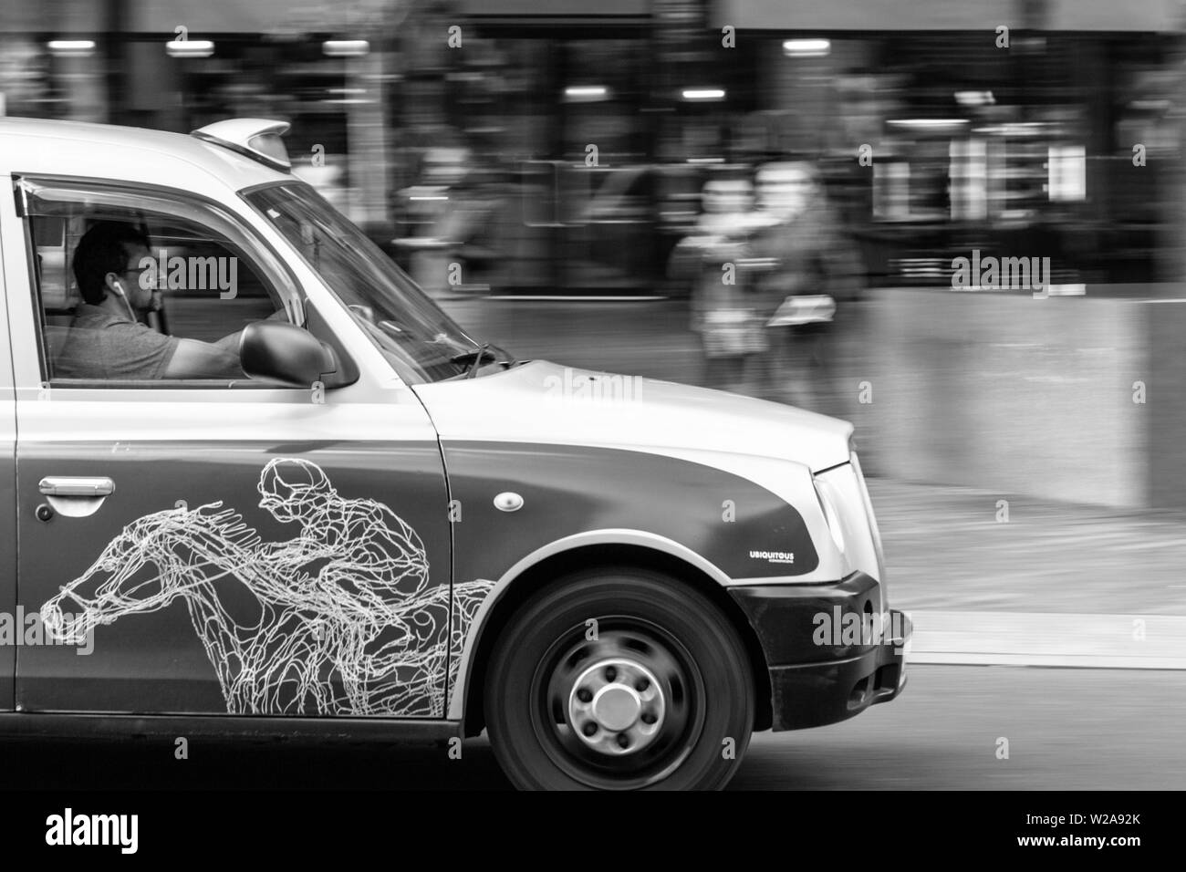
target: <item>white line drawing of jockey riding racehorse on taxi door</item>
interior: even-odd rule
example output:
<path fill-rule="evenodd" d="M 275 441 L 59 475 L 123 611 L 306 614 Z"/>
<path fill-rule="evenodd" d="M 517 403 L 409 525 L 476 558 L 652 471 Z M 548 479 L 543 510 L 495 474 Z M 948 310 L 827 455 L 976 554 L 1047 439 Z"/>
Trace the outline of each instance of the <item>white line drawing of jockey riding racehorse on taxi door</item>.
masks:
<path fill-rule="evenodd" d="M 257 490 L 295 537 L 264 542 L 222 501 L 146 515 L 42 606 L 46 631 L 81 643 L 180 599 L 228 712 L 442 717 L 493 583 L 429 585 L 416 532 L 384 503 L 342 497 L 308 460 L 270 460 Z"/>

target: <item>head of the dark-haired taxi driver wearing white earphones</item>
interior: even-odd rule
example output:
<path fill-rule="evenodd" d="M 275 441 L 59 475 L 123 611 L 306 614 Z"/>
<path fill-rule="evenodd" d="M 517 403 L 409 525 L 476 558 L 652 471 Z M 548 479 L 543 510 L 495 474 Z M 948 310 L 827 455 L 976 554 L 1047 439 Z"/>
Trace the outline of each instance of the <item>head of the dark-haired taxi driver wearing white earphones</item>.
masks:
<path fill-rule="evenodd" d="M 155 267 L 141 268 L 151 260 L 148 237 L 134 224 L 100 221 L 83 234 L 75 248 L 74 273 L 83 300 L 97 306 L 108 294 L 123 297 L 136 311 L 152 305 Z"/>

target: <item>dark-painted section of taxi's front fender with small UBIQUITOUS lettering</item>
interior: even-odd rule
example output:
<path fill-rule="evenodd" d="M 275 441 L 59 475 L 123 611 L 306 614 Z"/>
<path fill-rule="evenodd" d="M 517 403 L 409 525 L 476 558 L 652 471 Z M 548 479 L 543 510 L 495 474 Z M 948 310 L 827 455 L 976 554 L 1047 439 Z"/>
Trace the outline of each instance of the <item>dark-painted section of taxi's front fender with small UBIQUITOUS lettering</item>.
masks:
<path fill-rule="evenodd" d="M 645 530 L 726 578 L 811 573 L 806 523 L 785 499 L 707 464 L 649 452 L 527 443 L 444 444 L 457 577 L 499 578 L 525 554 L 588 530 Z M 493 504 L 511 491 L 522 508 Z M 783 558 L 758 556 L 779 553 Z"/>

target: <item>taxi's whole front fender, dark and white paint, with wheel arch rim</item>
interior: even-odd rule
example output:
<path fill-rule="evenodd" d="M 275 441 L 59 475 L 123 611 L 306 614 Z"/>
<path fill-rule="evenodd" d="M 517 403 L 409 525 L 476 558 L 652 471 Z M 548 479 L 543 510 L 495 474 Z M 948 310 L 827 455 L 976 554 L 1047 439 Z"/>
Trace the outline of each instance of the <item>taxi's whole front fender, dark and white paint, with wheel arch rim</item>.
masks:
<path fill-rule="evenodd" d="M 442 441 L 441 451 L 458 508 L 454 585 L 487 588 L 470 625 L 454 629 L 449 718 L 461 715 L 466 698 L 455 690 L 468 682 L 495 604 L 525 571 L 556 554 L 636 545 L 722 586 L 840 578 L 837 555 L 821 535 L 827 527 L 810 473 L 790 460 L 518 441 Z M 512 508 L 496 507 L 495 497 L 508 491 L 517 497 Z"/>

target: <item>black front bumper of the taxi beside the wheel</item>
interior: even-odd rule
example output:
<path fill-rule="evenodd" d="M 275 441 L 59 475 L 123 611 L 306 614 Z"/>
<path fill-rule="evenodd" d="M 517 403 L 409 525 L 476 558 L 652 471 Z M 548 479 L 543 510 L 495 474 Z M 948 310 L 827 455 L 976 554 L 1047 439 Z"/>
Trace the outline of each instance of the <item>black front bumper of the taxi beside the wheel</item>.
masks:
<path fill-rule="evenodd" d="M 906 685 L 913 626 L 881 611 L 876 580 L 729 588 L 758 634 L 770 675 L 772 728 L 834 724 L 888 702 Z"/>

